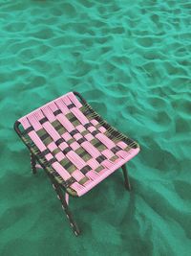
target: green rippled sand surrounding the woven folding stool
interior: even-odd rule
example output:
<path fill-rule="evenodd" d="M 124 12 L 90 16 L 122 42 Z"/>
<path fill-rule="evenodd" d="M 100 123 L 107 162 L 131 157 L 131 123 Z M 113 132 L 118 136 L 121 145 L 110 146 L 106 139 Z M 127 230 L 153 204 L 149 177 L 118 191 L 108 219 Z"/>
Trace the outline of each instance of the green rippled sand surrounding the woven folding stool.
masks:
<path fill-rule="evenodd" d="M 0 254 L 191 255 L 190 1 L 0 1 Z M 138 140 L 121 171 L 71 199 L 75 238 L 13 122 L 79 91 Z"/>

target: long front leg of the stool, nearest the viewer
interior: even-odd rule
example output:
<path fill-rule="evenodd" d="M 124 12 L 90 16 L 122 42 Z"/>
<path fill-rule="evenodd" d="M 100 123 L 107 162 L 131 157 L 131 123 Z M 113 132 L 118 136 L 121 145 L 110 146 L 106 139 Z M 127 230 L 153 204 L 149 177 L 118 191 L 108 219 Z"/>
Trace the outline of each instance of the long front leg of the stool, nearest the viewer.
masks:
<path fill-rule="evenodd" d="M 51 180 L 52 180 L 52 183 L 53 183 L 53 189 L 55 190 L 55 193 L 57 194 L 57 198 L 61 201 L 62 208 L 66 213 L 66 217 L 70 221 L 70 225 L 73 228 L 74 234 L 75 234 L 75 236 L 78 236 L 80 234 L 80 230 L 79 230 L 76 222 L 74 221 L 74 218 L 73 218 L 72 213 L 69 209 L 68 203 L 67 203 L 66 199 L 64 198 L 62 189 L 60 188 L 59 184 L 56 183 L 53 180 L 53 178 L 51 178 Z"/>

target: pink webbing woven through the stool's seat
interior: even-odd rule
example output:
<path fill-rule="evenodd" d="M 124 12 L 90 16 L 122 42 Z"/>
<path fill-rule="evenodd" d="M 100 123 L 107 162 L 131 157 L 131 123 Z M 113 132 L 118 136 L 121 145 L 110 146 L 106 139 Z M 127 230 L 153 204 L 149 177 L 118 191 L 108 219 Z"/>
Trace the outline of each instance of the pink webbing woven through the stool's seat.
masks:
<path fill-rule="evenodd" d="M 39 151 L 45 151 L 47 148 L 50 150 L 50 153 L 45 155 L 46 159 L 51 160 L 53 157 L 57 159 L 57 162 L 53 162 L 52 164 L 53 169 L 59 175 L 61 175 L 64 180 L 69 179 L 71 176 L 74 177 L 77 182 L 74 182 L 71 185 L 71 188 L 76 191 L 77 195 L 83 195 L 85 192 L 95 186 L 98 181 L 102 180 L 104 178 L 103 176 L 107 176 L 114 172 L 114 170 L 116 170 L 115 168 L 117 168 L 117 166 L 121 164 L 121 161 L 128 160 L 133 156 L 131 155 L 131 151 L 124 151 L 124 149 L 126 149 L 127 147 L 124 142 L 118 142 L 116 145 L 114 141 L 112 141 L 104 134 L 106 128 L 102 126 L 96 128 L 96 125 L 98 124 L 96 119 L 89 121 L 87 117 L 79 110 L 79 107 L 81 106 L 81 103 L 74 96 L 74 93 L 71 92 L 52 101 L 47 105 L 44 105 L 32 111 L 32 113 L 26 115 L 19 120 L 25 129 L 30 127 L 33 128 L 33 130 L 29 132 L 29 136 L 32 138 L 32 141 L 39 149 Z M 74 127 L 73 123 L 66 117 L 66 115 L 70 112 L 74 114 L 80 125 Z M 53 128 L 52 123 L 55 120 L 61 123 L 63 128 L 65 128 L 65 131 L 62 135 L 60 135 L 57 130 Z M 94 127 L 91 127 L 90 124 L 92 124 Z M 51 143 L 49 143 L 48 146 L 44 145 L 43 141 L 37 134 L 37 131 L 42 128 L 46 130 L 46 132 L 50 135 L 50 139 L 52 139 Z M 80 142 L 79 144 L 77 141 L 83 138 L 81 132 L 83 132 L 84 130 L 88 131 L 88 134 L 84 136 L 86 140 L 82 143 Z M 71 135 L 72 131 L 74 133 L 73 136 Z M 95 137 L 98 141 L 105 145 L 106 150 L 100 152 L 91 143 L 91 141 Z M 71 138 L 74 138 L 75 141 L 69 145 L 67 141 L 69 141 Z M 60 139 L 62 139 L 63 141 L 57 146 L 55 142 Z M 121 150 L 117 151 L 116 153 L 116 155 L 119 157 L 117 158 L 117 161 L 112 162 L 108 160 L 108 158 L 112 158 L 115 155 L 115 153 L 111 150 L 116 146 L 118 146 Z M 67 151 L 65 154 L 63 154 L 62 151 L 64 151 L 68 147 L 70 147 L 73 151 Z M 53 151 L 56 148 L 59 148 L 60 151 L 53 156 Z M 89 159 L 87 162 L 85 162 L 78 154 L 76 154 L 75 151 L 80 148 L 83 148 L 92 156 L 92 158 Z M 105 169 L 102 170 L 100 173 L 96 173 L 94 170 L 98 166 L 100 166 L 100 164 L 96 160 L 96 157 L 99 157 L 101 155 L 105 155 L 107 158 L 101 162 L 102 167 L 104 167 Z M 67 157 L 76 167 L 76 170 L 72 173 L 72 175 L 70 175 L 67 170 L 65 170 L 64 167 L 59 164 L 59 162 L 65 157 Z M 80 169 L 82 169 L 86 165 L 89 165 L 92 170 L 86 173 L 86 175 L 83 175 L 80 172 Z M 80 181 L 80 179 L 84 178 L 85 176 L 89 179 L 84 185 L 80 185 L 78 181 Z"/>

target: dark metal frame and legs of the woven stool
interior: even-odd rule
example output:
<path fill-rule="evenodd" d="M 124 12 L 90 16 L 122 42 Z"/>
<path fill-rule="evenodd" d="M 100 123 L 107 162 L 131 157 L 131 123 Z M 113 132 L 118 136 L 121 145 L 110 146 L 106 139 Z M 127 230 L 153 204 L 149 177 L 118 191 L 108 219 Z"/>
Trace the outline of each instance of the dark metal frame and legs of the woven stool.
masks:
<path fill-rule="evenodd" d="M 80 102 L 82 103 L 82 105 L 87 105 L 92 112 L 94 111 L 95 114 L 95 118 L 97 119 L 97 121 L 101 122 L 102 125 L 105 128 L 110 128 L 112 130 L 112 132 L 114 133 L 114 136 L 122 136 L 124 141 L 127 140 L 131 140 L 129 138 L 127 138 L 124 134 L 122 134 L 121 132 L 117 131 L 116 128 L 113 128 L 111 125 L 109 125 L 105 120 L 103 120 L 97 113 L 96 111 L 87 104 L 87 102 L 85 101 L 85 99 L 82 98 L 82 96 L 78 93 L 78 92 L 74 92 L 74 95 L 77 96 L 80 99 Z M 19 135 L 19 137 L 21 137 L 22 139 L 22 130 L 19 128 L 20 126 L 20 122 L 19 121 L 15 121 L 14 123 L 14 130 L 16 131 L 16 133 Z M 23 140 L 23 139 L 22 139 Z M 133 141 L 133 140 L 132 140 Z M 28 147 L 29 151 L 30 151 L 30 155 L 31 155 L 31 166 L 32 166 L 32 174 L 36 175 L 37 173 L 37 168 L 41 168 L 43 169 L 46 174 L 49 176 L 51 183 L 53 185 L 53 189 L 57 195 L 57 198 L 60 200 L 62 208 L 66 214 L 66 217 L 68 218 L 68 220 L 70 221 L 70 225 L 74 231 L 75 236 L 78 236 L 81 231 L 78 227 L 78 225 L 76 224 L 76 222 L 74 221 L 73 215 L 71 213 L 71 210 L 69 209 L 69 193 L 66 190 L 66 188 L 57 182 L 57 180 L 55 179 L 55 177 L 53 176 L 53 174 L 49 173 L 47 171 L 47 167 L 46 164 L 44 162 L 41 161 L 40 157 L 38 157 L 38 155 L 34 154 L 32 151 L 32 148 L 30 147 L 30 145 L 28 143 L 26 143 L 24 141 L 24 143 L 26 144 L 26 146 Z M 136 143 L 136 146 L 138 147 L 138 144 Z M 127 168 L 125 166 L 125 164 L 123 164 L 121 166 L 122 172 L 123 172 L 123 176 L 124 176 L 124 185 L 125 188 L 130 191 L 131 190 L 131 184 L 130 184 L 130 180 L 129 180 L 129 175 L 128 175 L 128 171 Z M 117 171 L 117 170 L 116 170 Z M 63 192 L 65 192 L 65 197 Z M 74 197 L 74 195 L 71 195 Z"/>

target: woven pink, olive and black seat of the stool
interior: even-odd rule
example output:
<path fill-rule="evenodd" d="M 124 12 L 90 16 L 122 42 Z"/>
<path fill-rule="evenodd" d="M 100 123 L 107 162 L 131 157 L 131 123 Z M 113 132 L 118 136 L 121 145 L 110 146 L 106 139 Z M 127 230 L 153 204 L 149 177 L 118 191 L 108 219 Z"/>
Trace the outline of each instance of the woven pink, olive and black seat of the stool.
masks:
<path fill-rule="evenodd" d="M 20 118 L 21 138 L 40 165 L 80 197 L 134 157 L 138 143 L 104 121 L 77 93 Z"/>

